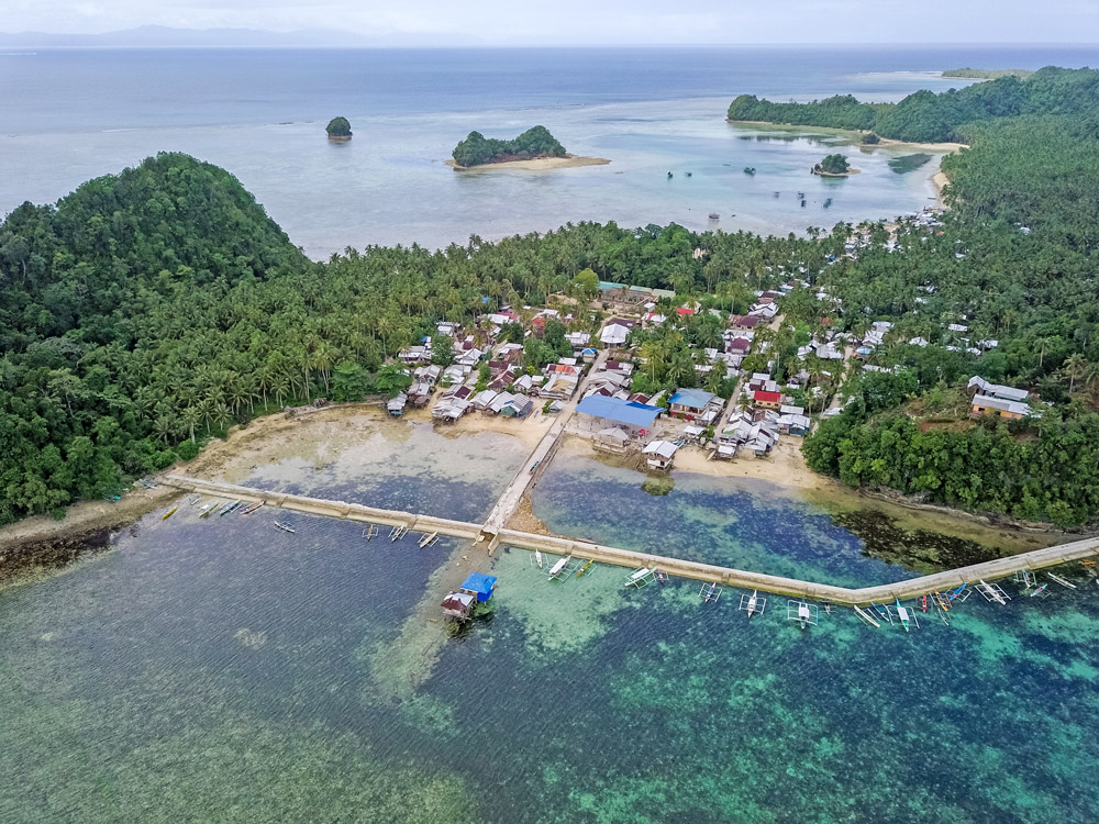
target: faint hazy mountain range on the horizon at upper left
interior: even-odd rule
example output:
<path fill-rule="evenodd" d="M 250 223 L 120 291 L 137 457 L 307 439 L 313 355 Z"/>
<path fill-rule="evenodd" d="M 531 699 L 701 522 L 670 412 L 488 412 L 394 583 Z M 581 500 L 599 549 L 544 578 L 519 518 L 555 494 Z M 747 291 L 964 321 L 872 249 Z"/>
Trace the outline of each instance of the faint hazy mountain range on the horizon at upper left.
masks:
<path fill-rule="evenodd" d="M 476 46 L 484 43 L 465 35 L 384 34 L 365 35 L 326 29 L 296 32 L 263 32 L 255 29 L 171 29 L 143 25 L 101 34 L 52 34 L 47 32 L 0 32 L 0 48 L 321 48 Z"/>

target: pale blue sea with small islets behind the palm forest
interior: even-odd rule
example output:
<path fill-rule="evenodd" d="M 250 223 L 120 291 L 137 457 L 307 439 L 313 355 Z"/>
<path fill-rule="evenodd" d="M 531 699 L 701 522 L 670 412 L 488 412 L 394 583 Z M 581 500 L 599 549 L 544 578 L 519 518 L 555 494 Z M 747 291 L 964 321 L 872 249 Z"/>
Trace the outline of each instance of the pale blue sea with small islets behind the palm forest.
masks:
<path fill-rule="evenodd" d="M 180 151 L 235 174 L 315 257 L 580 220 L 785 234 L 914 211 L 933 194 L 937 158 L 898 174 L 888 160 L 911 149 L 851 146 L 863 174 L 813 178 L 810 166 L 844 142 L 730 125 L 736 94 L 887 101 L 965 82 L 939 77 L 946 68 L 1097 58 L 1099 47 L 1061 46 L 0 54 L 0 213 Z M 324 137 L 337 114 L 352 122 L 348 144 Z M 535 124 L 611 164 L 478 174 L 443 165 L 473 130 L 514 136 Z"/>

